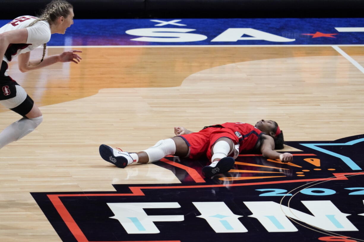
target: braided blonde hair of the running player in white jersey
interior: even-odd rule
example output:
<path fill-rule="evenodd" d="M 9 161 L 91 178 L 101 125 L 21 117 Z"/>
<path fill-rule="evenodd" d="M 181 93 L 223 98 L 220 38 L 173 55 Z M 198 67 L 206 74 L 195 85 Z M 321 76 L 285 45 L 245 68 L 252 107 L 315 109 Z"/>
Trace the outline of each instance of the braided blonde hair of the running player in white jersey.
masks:
<path fill-rule="evenodd" d="M 67 17 L 70 14 L 70 8 L 73 8 L 72 4 L 68 3 L 65 0 L 53 0 L 46 5 L 46 8 L 43 10 L 38 19 L 34 20 L 31 24 L 29 24 L 28 27 L 31 27 L 35 23 L 43 20 L 48 21 L 49 24 L 52 24 L 61 16 Z M 46 55 L 46 47 L 47 43 L 44 43 L 43 56 L 40 62 L 43 61 L 44 56 Z"/>

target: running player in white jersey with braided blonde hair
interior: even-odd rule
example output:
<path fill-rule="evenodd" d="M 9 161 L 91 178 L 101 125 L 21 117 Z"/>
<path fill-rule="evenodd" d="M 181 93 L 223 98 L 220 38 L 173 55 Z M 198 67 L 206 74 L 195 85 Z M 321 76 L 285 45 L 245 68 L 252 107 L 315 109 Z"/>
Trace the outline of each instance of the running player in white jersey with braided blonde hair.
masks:
<path fill-rule="evenodd" d="M 81 60 L 76 52 L 67 51 L 60 55 L 44 57 L 46 43 L 51 34 L 64 34 L 73 24 L 73 7 L 64 0 L 47 4 L 39 18 L 20 16 L 0 28 L 0 104 L 23 116 L 0 133 L 0 149 L 32 132 L 43 120 L 42 113 L 25 90 L 8 75 L 8 63 L 18 56 L 21 72 L 43 68 L 56 62 Z M 30 51 L 43 45 L 43 57 L 29 60 Z"/>

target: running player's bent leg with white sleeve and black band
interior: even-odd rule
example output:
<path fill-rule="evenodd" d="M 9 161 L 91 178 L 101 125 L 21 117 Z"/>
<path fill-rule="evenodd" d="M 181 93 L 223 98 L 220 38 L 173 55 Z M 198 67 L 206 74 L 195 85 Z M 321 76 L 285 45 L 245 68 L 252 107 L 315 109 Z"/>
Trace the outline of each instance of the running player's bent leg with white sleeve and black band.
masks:
<path fill-rule="evenodd" d="M 13 122 L 0 133 L 0 149 L 32 132 L 43 120 L 37 105 L 19 85 L 16 85 L 15 97 L 1 100 L 0 103 L 23 116 L 23 118 Z"/>

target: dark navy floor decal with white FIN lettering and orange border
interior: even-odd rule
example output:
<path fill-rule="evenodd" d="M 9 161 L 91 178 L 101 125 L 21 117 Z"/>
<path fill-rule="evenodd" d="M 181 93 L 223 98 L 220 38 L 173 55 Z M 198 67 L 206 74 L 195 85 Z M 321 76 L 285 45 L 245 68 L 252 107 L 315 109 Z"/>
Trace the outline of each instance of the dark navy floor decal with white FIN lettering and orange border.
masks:
<path fill-rule="evenodd" d="M 32 196 L 64 242 L 364 241 L 364 134 L 287 144 L 288 164 L 242 154 L 204 179 L 206 160 L 167 157 L 181 184 Z"/>

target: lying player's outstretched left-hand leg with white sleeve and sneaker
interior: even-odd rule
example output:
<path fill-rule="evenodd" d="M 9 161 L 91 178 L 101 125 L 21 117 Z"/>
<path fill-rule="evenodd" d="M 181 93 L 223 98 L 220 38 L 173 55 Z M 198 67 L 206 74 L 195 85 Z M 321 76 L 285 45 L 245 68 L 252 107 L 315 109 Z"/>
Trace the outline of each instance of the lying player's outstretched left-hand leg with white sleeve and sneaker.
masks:
<path fill-rule="evenodd" d="M 107 145 L 100 145 L 100 156 L 120 168 L 133 164 L 153 163 L 170 155 L 186 157 L 189 148 L 181 137 L 158 141 L 154 146 L 138 153 L 123 152 Z"/>

